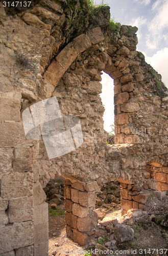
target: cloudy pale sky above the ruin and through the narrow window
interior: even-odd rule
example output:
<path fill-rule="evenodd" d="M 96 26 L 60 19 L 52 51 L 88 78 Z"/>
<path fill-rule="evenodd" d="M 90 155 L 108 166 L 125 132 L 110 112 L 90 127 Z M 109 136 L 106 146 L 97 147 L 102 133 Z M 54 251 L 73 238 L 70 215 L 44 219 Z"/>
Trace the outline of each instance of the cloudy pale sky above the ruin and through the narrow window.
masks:
<path fill-rule="evenodd" d="M 102 0 L 97 0 L 101 4 Z M 122 25 L 138 27 L 137 51 L 162 76 L 168 88 L 168 0 L 104 0 L 111 17 Z M 105 105 L 104 128 L 110 132 L 114 122 L 113 80 L 102 75 L 102 102 Z"/>

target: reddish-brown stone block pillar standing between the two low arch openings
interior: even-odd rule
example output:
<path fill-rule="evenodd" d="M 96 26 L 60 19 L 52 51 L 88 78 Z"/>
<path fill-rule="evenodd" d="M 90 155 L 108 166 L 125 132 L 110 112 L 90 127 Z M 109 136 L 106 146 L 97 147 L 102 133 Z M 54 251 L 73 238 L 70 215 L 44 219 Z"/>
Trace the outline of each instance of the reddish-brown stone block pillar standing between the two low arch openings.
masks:
<path fill-rule="evenodd" d="M 98 189 L 97 182 L 84 184 L 64 177 L 66 233 L 81 246 L 87 244 L 88 236 L 98 223 L 97 214 L 93 212 Z"/>

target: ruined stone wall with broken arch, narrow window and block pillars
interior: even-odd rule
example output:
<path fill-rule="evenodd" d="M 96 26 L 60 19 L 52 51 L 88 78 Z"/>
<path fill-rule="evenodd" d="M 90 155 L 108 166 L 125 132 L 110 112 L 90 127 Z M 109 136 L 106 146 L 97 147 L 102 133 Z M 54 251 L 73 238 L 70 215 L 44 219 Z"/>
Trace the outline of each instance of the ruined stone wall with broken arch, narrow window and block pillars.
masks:
<path fill-rule="evenodd" d="M 121 183 L 123 214 L 168 189 L 168 92 L 136 51 L 136 27 L 109 28 L 109 7 L 89 14 L 86 0 L 41 0 L 1 23 L 1 255 L 47 255 L 48 208 L 42 188 L 64 178 L 67 236 L 87 244 L 97 225 L 100 187 Z M 115 144 L 103 129 L 101 72 L 114 79 Z M 111 84 L 111 86 L 113 86 Z M 27 139 L 22 112 L 57 97 L 62 115 L 79 117 L 83 144 L 49 159 Z"/>

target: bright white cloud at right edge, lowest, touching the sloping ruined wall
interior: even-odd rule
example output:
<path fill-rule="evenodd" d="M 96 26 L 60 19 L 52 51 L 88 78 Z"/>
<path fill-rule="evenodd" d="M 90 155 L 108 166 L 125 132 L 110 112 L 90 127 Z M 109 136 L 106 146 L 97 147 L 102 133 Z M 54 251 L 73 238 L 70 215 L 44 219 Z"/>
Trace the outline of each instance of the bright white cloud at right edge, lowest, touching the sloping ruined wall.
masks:
<path fill-rule="evenodd" d="M 146 57 L 146 61 L 162 76 L 162 81 L 165 83 L 165 86 L 168 88 L 168 72 L 167 72 L 167 64 L 168 64 L 168 48 L 157 51 L 152 57 L 148 57 L 145 53 L 143 53 Z"/>

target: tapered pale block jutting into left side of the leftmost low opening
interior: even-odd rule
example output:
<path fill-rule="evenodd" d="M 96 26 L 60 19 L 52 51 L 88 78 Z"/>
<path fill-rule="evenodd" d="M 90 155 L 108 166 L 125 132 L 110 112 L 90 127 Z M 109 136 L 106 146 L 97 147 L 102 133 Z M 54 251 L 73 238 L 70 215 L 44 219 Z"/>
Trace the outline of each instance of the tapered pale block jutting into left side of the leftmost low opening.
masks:
<path fill-rule="evenodd" d="M 38 206 L 45 202 L 46 195 L 39 182 L 33 184 L 33 204 Z"/>

